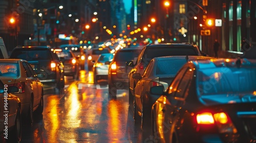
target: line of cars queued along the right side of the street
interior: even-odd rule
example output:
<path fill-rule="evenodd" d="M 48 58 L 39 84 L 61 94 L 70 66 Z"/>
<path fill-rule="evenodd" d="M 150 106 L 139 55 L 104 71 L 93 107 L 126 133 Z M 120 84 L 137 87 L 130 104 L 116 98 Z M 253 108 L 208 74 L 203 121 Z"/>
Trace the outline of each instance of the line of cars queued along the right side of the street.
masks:
<path fill-rule="evenodd" d="M 152 141 L 256 141 L 255 60 L 208 57 L 189 43 L 137 50 L 130 60 L 118 57 L 129 48 L 115 53 L 109 94 L 128 86 L 135 123 Z"/>

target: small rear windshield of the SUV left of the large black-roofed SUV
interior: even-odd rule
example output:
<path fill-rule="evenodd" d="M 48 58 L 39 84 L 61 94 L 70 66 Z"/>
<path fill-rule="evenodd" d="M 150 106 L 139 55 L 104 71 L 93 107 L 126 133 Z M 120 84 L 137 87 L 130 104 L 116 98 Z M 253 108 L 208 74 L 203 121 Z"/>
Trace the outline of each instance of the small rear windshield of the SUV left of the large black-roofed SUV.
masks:
<path fill-rule="evenodd" d="M 139 56 L 140 50 L 134 50 L 134 51 L 119 51 L 116 53 L 115 61 L 131 61 L 136 60 L 136 58 Z"/>

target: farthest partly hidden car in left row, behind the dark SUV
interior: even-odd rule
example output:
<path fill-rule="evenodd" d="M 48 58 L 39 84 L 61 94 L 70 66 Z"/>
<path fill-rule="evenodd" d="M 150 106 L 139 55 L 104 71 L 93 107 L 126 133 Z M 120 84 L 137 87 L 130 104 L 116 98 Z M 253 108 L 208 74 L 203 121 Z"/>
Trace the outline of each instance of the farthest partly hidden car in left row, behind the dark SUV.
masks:
<path fill-rule="evenodd" d="M 76 44 L 62 44 L 59 46 L 60 49 L 72 51 L 77 59 L 79 59 L 80 69 L 84 69 L 84 63 L 86 61 L 86 54 L 80 45 Z"/>

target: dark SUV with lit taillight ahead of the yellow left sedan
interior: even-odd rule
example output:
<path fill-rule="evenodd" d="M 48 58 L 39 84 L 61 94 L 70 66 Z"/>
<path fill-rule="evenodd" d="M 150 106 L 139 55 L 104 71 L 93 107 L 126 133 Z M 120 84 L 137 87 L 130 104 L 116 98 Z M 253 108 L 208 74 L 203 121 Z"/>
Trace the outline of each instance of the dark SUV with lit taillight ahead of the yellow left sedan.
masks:
<path fill-rule="evenodd" d="M 40 82 L 45 85 L 65 86 L 64 66 L 56 52 L 50 46 L 17 46 L 10 58 L 24 59 L 30 63 L 35 73 L 42 74 Z"/>

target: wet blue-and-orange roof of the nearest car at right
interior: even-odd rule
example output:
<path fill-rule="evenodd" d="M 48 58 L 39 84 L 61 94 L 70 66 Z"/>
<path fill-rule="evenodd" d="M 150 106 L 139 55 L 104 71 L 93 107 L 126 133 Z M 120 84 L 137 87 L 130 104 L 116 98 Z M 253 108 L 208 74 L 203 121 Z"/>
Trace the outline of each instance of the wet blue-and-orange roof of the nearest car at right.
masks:
<path fill-rule="evenodd" d="M 197 68 L 215 67 L 256 67 L 256 60 L 253 59 L 214 59 L 209 61 L 193 61 Z"/>

